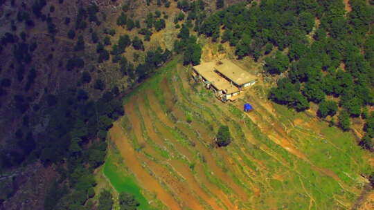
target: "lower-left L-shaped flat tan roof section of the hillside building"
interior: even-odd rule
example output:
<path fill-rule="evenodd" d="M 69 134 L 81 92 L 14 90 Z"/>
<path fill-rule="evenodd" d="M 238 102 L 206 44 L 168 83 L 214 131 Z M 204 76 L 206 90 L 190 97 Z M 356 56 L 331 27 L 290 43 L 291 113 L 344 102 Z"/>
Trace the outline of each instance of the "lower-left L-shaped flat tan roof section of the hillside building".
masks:
<path fill-rule="evenodd" d="M 224 90 L 227 94 L 236 93 L 238 92 L 238 88 L 231 84 L 229 81 L 224 79 L 224 77 L 221 77 L 217 73 L 214 72 L 215 69 L 215 62 L 205 62 L 202 64 L 199 64 L 197 66 L 193 66 L 193 68 L 206 79 L 208 82 L 210 82 L 217 90 Z"/>

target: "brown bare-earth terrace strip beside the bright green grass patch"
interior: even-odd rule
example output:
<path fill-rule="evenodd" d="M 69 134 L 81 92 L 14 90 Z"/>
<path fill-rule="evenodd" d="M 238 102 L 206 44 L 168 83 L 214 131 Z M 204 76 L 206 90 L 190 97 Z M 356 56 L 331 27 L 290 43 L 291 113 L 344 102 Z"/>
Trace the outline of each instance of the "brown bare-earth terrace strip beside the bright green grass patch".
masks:
<path fill-rule="evenodd" d="M 127 164 L 130 171 L 134 173 L 136 179 L 142 184 L 142 187 L 149 191 L 154 191 L 157 194 L 157 198 L 170 209 L 181 209 L 175 199 L 161 187 L 159 182 L 143 169 L 141 163 L 136 158 L 136 153 L 130 144 L 130 140 L 127 139 L 118 122 L 114 122 L 113 127 L 109 131 L 109 135 L 120 151 L 124 162 Z"/>

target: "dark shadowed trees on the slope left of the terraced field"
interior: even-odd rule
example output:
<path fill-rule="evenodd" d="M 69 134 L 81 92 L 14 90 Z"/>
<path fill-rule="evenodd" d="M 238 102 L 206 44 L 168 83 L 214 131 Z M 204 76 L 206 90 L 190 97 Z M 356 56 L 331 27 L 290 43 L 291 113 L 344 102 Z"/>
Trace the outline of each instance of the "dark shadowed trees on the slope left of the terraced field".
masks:
<path fill-rule="evenodd" d="M 63 6 L 64 1 L 59 0 L 58 4 Z M 163 6 L 159 4 L 157 2 L 157 7 Z M 170 6 L 168 1 L 163 1 L 162 4 L 166 8 Z M 131 5 L 130 2 L 123 3 L 120 15 L 116 18 L 116 25 L 129 32 L 137 30 L 138 35 L 134 37 L 123 34 L 119 39 L 113 40 L 116 30 L 100 28 L 106 17 L 100 13 L 100 7 L 95 3 L 79 6 L 74 18 L 64 17 L 64 26 L 61 27 L 69 28 L 64 36 L 73 42 L 73 46 L 66 49 L 66 60 L 64 57 L 57 61 L 57 68 L 73 75 L 78 73 L 79 76 L 76 79 L 72 78 L 76 83 L 65 84 L 66 86 L 57 91 L 52 92 L 48 91 L 48 87 L 44 88 L 43 99 L 35 103 L 35 99 L 28 96 L 32 95 L 31 91 L 35 91 L 35 82 L 37 77 L 41 76 L 36 68 L 39 66 L 39 57 L 34 54 L 37 50 L 44 50 L 41 48 L 44 46 L 39 46 L 40 43 L 38 44 L 36 39 L 28 39 L 31 35 L 27 32 L 38 24 L 45 24 L 52 43 L 55 43 L 56 39 L 64 39 L 59 37 L 61 31 L 55 23 L 57 18 L 51 17 L 60 7 L 49 5 L 44 0 L 35 0 L 30 5 L 0 1 L 0 6 L 21 8 L 17 13 L 17 19 L 12 20 L 11 30 L 1 37 L 0 53 L 6 55 L 8 52 L 5 49 L 12 48 L 9 60 L 16 62 L 12 62 L 9 68 L 16 72 L 17 77 L 13 79 L 5 74 L 1 75 L 0 97 L 10 97 L 15 115 L 22 116 L 21 125 L 13 133 L 10 144 L 7 147 L 0 146 L 0 171 L 17 169 L 35 161 L 42 162 L 44 166 L 54 166 L 58 178 L 48 189 L 44 209 L 91 209 L 94 206 L 91 198 L 94 197 L 98 197 L 98 209 L 112 209 L 111 192 L 102 191 L 100 195 L 95 195 L 94 187 L 97 182 L 94 170 L 105 160 L 108 129 L 124 114 L 124 93 L 121 93 L 123 88 L 111 88 L 104 79 L 93 75 L 93 70 L 89 69 L 93 68 L 89 55 L 94 53 L 94 64 L 113 65 L 121 73 L 121 77 L 129 78 L 134 86 L 150 77 L 172 56 L 170 50 L 160 47 L 145 51 L 144 44 L 145 41 L 150 41 L 153 32 L 166 27 L 165 20 L 168 19 L 168 15 L 163 12 L 161 17 L 161 12 L 156 10 L 148 13 L 144 21 L 136 20 L 133 16 L 130 17 Z M 28 6 L 31 8 L 30 11 L 27 10 Z M 178 21 L 183 20 L 184 17 L 178 18 Z M 26 30 L 18 35 L 17 26 L 26 27 Z M 187 40 L 189 37 L 188 33 L 181 39 Z M 194 48 L 195 41 L 196 38 L 188 39 L 188 48 Z M 123 55 L 129 48 L 134 52 L 139 51 L 134 53 L 133 61 Z M 201 47 L 198 49 L 201 51 Z M 58 52 L 54 53 L 54 50 L 55 48 L 52 48 L 49 54 L 47 53 L 46 61 L 57 60 L 53 55 Z M 141 54 L 144 57 L 140 58 Z M 199 58 L 200 54 L 195 55 L 193 61 L 197 63 Z M 186 62 L 190 61 L 192 59 L 186 59 Z M 3 66 L 0 73 L 2 68 Z M 23 86 L 19 94 L 14 94 L 14 86 Z M 39 90 L 35 92 L 39 94 Z M 43 117 L 44 115 L 48 117 Z M 42 116 L 42 119 L 48 118 L 42 132 L 34 131 L 35 119 L 38 119 L 38 116 Z M 12 183 L 10 180 L 10 184 Z M 16 193 L 13 188 L 10 187 L 0 193 L 0 204 Z M 121 209 L 136 209 L 139 205 L 133 196 L 127 193 L 120 195 L 120 202 Z"/>

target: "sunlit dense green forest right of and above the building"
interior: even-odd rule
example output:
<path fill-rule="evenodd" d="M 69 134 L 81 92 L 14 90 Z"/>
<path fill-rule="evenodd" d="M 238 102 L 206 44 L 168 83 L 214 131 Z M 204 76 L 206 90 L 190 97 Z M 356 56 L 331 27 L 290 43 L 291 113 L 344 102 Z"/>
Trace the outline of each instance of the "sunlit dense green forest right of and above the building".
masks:
<path fill-rule="evenodd" d="M 199 33 L 228 41 L 238 58 L 265 58 L 264 70 L 278 77 L 269 99 L 297 111 L 319 104 L 318 115 L 338 115 L 350 129 L 351 117 L 366 119 L 362 146 L 371 149 L 374 113 L 374 8 L 350 1 L 352 12 L 335 1 L 261 1 L 226 8 L 208 17 Z M 332 124 L 335 124 L 333 122 Z"/>

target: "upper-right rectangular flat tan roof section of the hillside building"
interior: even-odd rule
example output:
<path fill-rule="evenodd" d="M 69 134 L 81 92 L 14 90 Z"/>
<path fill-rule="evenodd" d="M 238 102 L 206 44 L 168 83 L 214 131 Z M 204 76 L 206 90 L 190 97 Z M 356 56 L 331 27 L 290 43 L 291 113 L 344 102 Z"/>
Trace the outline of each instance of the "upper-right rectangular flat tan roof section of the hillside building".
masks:
<path fill-rule="evenodd" d="M 221 61 L 218 61 L 215 63 L 214 68 L 239 86 L 253 82 L 257 79 L 256 76 L 247 73 L 247 71 L 243 70 L 229 59 L 222 59 Z"/>

